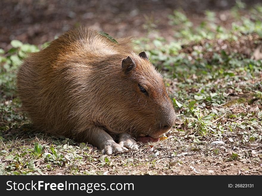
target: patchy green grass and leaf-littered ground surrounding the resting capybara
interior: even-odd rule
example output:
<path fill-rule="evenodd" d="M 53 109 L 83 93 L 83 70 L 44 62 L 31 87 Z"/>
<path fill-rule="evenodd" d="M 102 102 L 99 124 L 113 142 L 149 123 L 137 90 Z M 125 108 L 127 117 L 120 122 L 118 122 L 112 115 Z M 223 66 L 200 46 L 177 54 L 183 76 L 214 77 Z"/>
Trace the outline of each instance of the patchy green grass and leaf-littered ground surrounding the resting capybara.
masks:
<path fill-rule="evenodd" d="M 15 75 L 26 53 L 45 45 L 13 40 L 13 48 L 0 49 L 0 175 L 195 174 L 193 166 L 200 174 L 261 174 L 262 66 L 253 52 L 262 39 L 262 6 L 245 13 L 237 1 L 227 28 L 214 12 L 195 26 L 175 10 L 169 42 L 155 36 L 152 21 L 144 25 L 148 35 L 135 44 L 162 70 L 177 122 L 160 142 L 111 156 L 32 129 L 19 110 Z"/>

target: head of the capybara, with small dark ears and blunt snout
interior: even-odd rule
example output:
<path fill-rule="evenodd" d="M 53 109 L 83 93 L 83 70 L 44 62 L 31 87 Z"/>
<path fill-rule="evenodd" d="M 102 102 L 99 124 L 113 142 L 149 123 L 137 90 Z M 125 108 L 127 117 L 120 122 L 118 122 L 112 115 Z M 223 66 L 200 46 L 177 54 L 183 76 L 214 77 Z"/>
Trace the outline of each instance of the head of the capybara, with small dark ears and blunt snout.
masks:
<path fill-rule="evenodd" d="M 130 53 L 122 58 L 121 65 L 121 77 L 115 81 L 118 89 L 112 92 L 121 94 L 121 98 L 112 100 L 115 109 L 119 109 L 119 117 L 112 115 L 111 120 L 118 120 L 123 127 L 121 131 L 129 129 L 136 138 L 159 137 L 175 121 L 174 107 L 162 76 L 149 62 L 146 52 Z"/>

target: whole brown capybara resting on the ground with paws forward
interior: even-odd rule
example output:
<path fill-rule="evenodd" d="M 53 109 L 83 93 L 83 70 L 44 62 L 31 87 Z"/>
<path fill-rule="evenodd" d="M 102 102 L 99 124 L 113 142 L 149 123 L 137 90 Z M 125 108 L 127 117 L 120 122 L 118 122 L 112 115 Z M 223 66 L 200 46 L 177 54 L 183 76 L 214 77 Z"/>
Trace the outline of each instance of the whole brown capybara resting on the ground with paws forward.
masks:
<path fill-rule="evenodd" d="M 167 132 L 175 111 L 147 53 L 105 35 L 86 27 L 64 33 L 24 60 L 17 88 L 36 129 L 110 155 Z"/>

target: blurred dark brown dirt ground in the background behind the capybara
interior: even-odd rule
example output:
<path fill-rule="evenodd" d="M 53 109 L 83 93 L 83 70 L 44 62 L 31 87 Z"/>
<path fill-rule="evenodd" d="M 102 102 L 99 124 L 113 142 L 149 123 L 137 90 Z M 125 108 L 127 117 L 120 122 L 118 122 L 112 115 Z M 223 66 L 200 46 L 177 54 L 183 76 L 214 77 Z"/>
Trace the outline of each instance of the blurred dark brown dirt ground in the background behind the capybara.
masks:
<path fill-rule="evenodd" d="M 247 6 L 260 0 L 244 0 Z M 174 9 L 184 10 L 197 24 L 205 10 L 227 12 L 234 0 L 2 0 L 0 1 L 0 48 L 10 41 L 41 45 L 55 36 L 79 25 L 104 30 L 113 37 L 143 37 L 145 23 L 157 25 L 158 33 L 173 36 L 168 15 Z M 224 21 L 224 23 L 231 21 Z M 224 24 L 225 25 L 225 24 Z"/>

